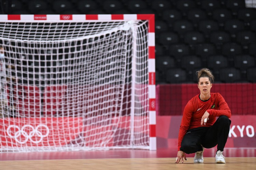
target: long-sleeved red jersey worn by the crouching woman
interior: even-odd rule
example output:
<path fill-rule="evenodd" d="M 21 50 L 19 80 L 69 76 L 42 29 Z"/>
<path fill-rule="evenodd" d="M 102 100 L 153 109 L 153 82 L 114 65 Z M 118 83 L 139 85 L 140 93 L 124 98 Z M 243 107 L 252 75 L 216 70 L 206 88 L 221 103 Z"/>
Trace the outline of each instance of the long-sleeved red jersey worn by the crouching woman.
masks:
<path fill-rule="evenodd" d="M 209 120 L 205 125 L 206 127 L 212 126 L 216 121 L 216 117 L 222 115 L 225 115 L 228 118 L 231 117 L 231 111 L 228 104 L 221 94 L 211 93 L 210 99 L 206 102 L 200 100 L 199 95 L 193 97 L 188 101 L 184 108 L 178 138 L 178 151 L 180 150 L 181 141 L 187 133 L 187 130 L 201 127 L 201 119 L 205 111 L 210 114 Z"/>

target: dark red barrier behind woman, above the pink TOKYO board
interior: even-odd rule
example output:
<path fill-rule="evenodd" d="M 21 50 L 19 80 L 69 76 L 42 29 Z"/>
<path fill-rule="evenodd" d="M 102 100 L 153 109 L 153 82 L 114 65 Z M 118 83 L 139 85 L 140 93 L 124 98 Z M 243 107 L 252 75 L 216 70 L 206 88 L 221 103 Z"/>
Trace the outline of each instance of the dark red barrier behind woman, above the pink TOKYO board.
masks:
<path fill-rule="evenodd" d="M 232 115 L 254 115 L 256 83 L 213 83 L 211 92 L 219 92 Z M 182 115 L 187 102 L 199 94 L 197 84 L 161 84 L 156 86 L 157 115 Z"/>

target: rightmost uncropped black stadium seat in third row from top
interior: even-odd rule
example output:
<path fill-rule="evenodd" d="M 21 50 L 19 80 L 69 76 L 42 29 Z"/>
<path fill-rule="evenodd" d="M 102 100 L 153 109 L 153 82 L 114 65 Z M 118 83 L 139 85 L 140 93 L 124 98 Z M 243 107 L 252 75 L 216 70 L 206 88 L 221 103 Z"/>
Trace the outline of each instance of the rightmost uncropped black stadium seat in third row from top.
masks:
<path fill-rule="evenodd" d="M 224 30 L 230 34 L 236 34 L 238 31 L 244 29 L 244 23 L 238 19 L 227 20 L 224 24 Z"/>

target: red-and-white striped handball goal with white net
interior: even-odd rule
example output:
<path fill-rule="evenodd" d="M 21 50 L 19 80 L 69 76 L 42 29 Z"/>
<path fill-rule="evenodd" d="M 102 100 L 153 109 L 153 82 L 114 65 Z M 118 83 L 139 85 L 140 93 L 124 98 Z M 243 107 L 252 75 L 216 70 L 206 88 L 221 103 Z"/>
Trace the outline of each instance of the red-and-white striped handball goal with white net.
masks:
<path fill-rule="evenodd" d="M 0 15 L 0 151 L 156 150 L 154 24 L 153 14 Z"/>

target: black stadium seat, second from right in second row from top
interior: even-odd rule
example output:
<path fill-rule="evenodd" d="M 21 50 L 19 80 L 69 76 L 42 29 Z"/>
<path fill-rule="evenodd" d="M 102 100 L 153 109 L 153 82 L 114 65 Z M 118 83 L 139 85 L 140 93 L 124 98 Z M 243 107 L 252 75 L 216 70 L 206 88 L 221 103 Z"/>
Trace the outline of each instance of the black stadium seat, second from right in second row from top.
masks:
<path fill-rule="evenodd" d="M 225 21 L 232 18 L 232 13 L 226 8 L 218 8 L 213 11 L 212 18 L 218 23 L 224 24 Z"/>

